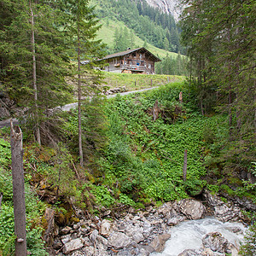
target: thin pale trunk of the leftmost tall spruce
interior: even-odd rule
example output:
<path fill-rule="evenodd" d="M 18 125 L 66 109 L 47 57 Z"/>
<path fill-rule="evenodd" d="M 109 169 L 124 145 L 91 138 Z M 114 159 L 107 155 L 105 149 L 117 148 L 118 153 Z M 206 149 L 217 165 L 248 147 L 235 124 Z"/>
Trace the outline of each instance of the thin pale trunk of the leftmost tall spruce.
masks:
<path fill-rule="evenodd" d="M 38 120 L 38 85 L 37 85 L 37 62 L 36 62 L 36 46 L 35 46 L 35 31 L 34 31 L 34 14 L 32 10 L 32 4 L 30 3 L 30 10 L 31 10 L 31 25 L 32 25 L 32 36 L 31 36 L 31 44 L 32 44 L 32 63 L 33 63 L 33 71 L 32 71 L 32 78 L 33 78 L 33 89 L 34 89 L 34 101 L 35 101 L 35 135 L 36 141 L 39 145 L 41 145 L 41 135 L 40 135 L 40 128 L 39 128 L 39 120 Z"/>

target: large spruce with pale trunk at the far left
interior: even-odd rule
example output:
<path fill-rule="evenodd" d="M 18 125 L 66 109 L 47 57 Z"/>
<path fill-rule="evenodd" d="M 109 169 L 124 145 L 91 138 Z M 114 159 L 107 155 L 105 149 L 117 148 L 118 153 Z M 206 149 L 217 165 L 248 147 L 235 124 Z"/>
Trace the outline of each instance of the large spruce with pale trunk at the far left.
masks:
<path fill-rule="evenodd" d="M 69 101 L 65 81 L 68 59 L 65 38 L 58 29 L 59 14 L 49 3 L 8 1 L 11 17 L 0 33 L 0 51 L 5 73 L 3 90 L 26 107 L 26 120 L 32 124 L 36 141 L 41 143 L 41 124 L 47 112 Z"/>

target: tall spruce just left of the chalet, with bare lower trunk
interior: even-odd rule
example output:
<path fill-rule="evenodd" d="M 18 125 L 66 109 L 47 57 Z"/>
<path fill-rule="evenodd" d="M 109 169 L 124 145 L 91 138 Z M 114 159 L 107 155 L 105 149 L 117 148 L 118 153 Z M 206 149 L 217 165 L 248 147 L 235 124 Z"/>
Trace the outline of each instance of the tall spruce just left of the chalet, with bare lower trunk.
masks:
<path fill-rule="evenodd" d="M 71 45 L 71 57 L 76 60 L 74 78 L 78 86 L 79 102 L 79 161 L 84 166 L 83 131 L 82 131 L 82 104 L 84 97 L 96 96 L 101 88 L 102 73 L 93 67 L 102 57 L 102 42 L 96 40 L 96 32 L 100 28 L 93 8 L 88 0 L 67 0 L 63 7 L 67 16 L 67 37 Z M 84 61 L 84 65 L 82 65 Z"/>

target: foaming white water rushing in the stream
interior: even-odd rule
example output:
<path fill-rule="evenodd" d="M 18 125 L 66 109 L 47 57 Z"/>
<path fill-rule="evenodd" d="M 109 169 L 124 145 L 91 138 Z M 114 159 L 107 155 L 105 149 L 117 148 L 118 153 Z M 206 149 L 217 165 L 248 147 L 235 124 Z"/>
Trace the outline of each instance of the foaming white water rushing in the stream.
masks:
<path fill-rule="evenodd" d="M 231 228 L 238 227 L 242 232 L 233 233 Z M 243 240 L 246 228 L 240 223 L 222 223 L 216 218 L 203 218 L 189 220 L 173 227 L 169 233 L 171 238 L 166 241 L 163 253 L 151 253 L 150 255 L 177 256 L 186 249 L 199 249 L 202 247 L 202 238 L 210 232 L 220 232 L 235 246 Z M 242 234 L 241 234 L 242 233 Z"/>

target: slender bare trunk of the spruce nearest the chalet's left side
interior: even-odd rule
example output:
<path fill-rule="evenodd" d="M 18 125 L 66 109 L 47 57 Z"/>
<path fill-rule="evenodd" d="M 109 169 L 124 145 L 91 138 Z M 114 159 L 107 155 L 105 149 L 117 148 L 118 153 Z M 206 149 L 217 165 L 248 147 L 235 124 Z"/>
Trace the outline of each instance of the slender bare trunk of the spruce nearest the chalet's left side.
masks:
<path fill-rule="evenodd" d="M 78 19 L 79 23 L 79 19 Z M 84 166 L 84 157 L 83 157 L 83 144 L 82 144 L 82 124 L 81 124 L 81 63 L 80 63 L 80 30 L 78 24 L 78 72 L 79 72 L 79 158 L 80 166 Z"/>

